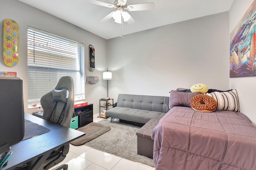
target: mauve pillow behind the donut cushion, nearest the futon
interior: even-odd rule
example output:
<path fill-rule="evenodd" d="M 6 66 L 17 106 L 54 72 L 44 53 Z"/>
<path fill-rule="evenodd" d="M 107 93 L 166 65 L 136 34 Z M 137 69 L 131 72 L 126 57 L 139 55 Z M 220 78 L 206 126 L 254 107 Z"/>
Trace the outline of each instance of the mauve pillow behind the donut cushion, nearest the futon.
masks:
<path fill-rule="evenodd" d="M 199 94 L 201 93 L 200 92 L 183 93 L 183 92 L 172 90 L 170 94 L 169 108 L 171 109 L 174 106 L 190 107 L 191 98 Z"/>

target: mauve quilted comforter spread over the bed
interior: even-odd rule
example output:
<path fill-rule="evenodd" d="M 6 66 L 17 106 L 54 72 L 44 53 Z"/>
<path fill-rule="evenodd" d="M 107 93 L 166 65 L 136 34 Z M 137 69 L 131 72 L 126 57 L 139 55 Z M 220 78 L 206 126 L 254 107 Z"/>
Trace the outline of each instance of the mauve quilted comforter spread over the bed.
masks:
<path fill-rule="evenodd" d="M 256 170 L 256 127 L 240 112 L 173 107 L 152 139 L 156 170 Z"/>

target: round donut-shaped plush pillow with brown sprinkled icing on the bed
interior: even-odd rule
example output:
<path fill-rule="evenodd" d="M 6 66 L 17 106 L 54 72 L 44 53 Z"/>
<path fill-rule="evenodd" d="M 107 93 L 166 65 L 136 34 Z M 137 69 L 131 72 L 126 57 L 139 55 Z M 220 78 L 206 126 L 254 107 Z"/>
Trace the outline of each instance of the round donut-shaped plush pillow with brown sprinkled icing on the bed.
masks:
<path fill-rule="evenodd" d="M 195 111 L 213 112 L 217 108 L 217 102 L 214 98 L 208 95 L 200 94 L 192 97 L 192 99 L 190 100 L 190 106 Z"/>

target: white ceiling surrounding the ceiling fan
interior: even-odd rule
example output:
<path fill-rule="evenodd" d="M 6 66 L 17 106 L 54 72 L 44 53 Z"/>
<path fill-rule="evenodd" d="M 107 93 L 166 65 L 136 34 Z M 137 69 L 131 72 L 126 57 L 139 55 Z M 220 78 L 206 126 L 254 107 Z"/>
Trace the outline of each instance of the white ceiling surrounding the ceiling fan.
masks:
<path fill-rule="evenodd" d="M 234 0 L 127 0 L 127 5 L 154 2 L 154 9 L 149 11 L 131 11 L 129 14 L 136 21 L 133 25 L 120 24 L 111 18 L 100 22 L 114 8 L 107 8 L 89 3 L 90 0 L 19 0 L 62 20 L 70 22 L 84 30 L 92 32 L 106 40 L 140 32 L 159 26 L 190 20 L 202 16 L 230 10 Z M 114 0 L 101 0 L 114 4 Z"/>

